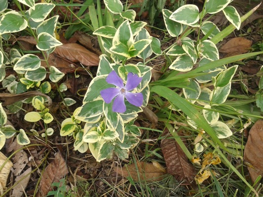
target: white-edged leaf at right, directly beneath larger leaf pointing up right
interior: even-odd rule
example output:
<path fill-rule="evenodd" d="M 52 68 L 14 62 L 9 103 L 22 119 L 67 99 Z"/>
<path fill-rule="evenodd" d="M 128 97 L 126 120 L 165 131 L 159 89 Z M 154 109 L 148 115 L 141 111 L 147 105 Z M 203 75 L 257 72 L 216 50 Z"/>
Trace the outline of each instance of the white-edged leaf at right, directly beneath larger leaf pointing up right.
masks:
<path fill-rule="evenodd" d="M 228 83 L 224 87 L 216 87 L 210 95 L 211 102 L 217 104 L 224 103 L 230 93 L 230 90 L 231 90 L 231 83 Z"/>

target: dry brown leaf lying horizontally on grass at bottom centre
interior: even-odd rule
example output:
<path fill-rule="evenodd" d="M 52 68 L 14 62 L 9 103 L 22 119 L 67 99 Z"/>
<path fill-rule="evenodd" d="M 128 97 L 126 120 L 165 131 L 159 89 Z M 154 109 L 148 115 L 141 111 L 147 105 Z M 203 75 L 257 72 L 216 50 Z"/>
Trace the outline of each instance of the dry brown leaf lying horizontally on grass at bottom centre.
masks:
<path fill-rule="evenodd" d="M 163 166 L 157 162 L 138 162 L 136 165 L 130 164 L 126 165 L 126 167 L 114 167 L 113 169 L 123 177 L 132 177 L 134 181 L 161 181 L 163 179 L 163 175 L 166 174 Z"/>

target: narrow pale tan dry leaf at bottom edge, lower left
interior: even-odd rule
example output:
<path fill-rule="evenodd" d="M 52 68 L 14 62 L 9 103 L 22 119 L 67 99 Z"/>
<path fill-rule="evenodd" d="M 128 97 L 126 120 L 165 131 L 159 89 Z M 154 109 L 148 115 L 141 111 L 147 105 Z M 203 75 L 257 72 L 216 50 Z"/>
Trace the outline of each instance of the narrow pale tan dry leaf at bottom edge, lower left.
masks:
<path fill-rule="evenodd" d="M 17 183 L 17 185 L 13 187 L 12 195 L 10 197 L 22 197 L 24 195 L 25 189 L 31 177 L 31 171 L 32 168 L 30 167 L 26 171 L 24 171 L 20 176 L 16 177 L 15 184 Z"/>

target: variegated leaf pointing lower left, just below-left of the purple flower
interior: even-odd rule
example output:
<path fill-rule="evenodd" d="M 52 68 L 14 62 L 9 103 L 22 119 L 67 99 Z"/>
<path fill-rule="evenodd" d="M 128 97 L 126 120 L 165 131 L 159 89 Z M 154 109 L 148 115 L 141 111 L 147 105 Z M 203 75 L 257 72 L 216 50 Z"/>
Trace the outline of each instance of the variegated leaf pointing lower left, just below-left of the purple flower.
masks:
<path fill-rule="evenodd" d="M 84 103 L 76 112 L 75 118 L 84 121 L 86 118 L 93 118 L 100 116 L 103 113 L 103 100 L 94 100 Z"/>

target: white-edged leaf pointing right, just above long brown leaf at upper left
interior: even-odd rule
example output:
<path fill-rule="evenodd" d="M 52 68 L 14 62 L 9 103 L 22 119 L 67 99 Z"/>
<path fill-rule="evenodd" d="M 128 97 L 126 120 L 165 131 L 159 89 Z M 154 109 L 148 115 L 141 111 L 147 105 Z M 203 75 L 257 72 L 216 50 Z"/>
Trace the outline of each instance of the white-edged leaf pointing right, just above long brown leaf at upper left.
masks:
<path fill-rule="evenodd" d="M 37 48 L 40 51 L 46 51 L 60 45 L 62 45 L 62 43 L 49 33 L 42 32 L 38 34 Z"/>

